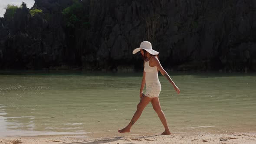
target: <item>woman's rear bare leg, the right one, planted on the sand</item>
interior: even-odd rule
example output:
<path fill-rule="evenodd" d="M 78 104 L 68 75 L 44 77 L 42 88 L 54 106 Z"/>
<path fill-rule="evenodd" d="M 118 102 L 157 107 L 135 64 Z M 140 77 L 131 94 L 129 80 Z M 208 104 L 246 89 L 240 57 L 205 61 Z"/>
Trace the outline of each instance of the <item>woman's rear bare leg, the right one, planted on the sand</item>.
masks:
<path fill-rule="evenodd" d="M 158 117 L 160 118 L 162 124 L 164 125 L 165 131 L 162 134 L 171 134 L 170 129 L 167 125 L 167 121 L 166 121 L 164 112 L 161 109 L 159 98 L 153 98 L 151 100 L 151 104 L 152 104 L 154 110 L 156 111 L 156 113 L 158 114 Z"/>

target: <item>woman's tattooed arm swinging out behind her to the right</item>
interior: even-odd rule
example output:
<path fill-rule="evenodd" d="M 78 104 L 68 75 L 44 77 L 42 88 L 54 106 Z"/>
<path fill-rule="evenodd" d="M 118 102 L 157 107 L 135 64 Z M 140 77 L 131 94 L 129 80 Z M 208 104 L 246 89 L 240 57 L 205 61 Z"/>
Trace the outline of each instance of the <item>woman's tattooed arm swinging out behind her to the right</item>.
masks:
<path fill-rule="evenodd" d="M 159 71 L 161 72 L 161 74 L 173 85 L 175 91 L 179 94 L 180 93 L 180 89 L 175 85 L 175 83 L 172 81 L 172 79 L 170 78 L 170 76 L 167 74 L 167 72 L 163 69 L 162 65 L 160 64 L 158 58 L 156 58 L 155 56 L 151 59 L 151 64 L 152 66 L 157 66 L 157 68 L 159 69 Z"/>

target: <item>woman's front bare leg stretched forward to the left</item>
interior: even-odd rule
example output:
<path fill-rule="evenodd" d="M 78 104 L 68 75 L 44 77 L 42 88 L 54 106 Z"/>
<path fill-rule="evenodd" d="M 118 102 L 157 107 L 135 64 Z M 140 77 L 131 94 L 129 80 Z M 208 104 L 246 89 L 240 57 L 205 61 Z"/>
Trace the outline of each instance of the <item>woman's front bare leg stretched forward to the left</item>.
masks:
<path fill-rule="evenodd" d="M 151 100 L 152 100 L 152 98 L 149 98 L 147 96 L 142 97 L 141 101 L 137 105 L 137 111 L 131 118 L 131 122 L 125 128 L 118 130 L 118 132 L 120 132 L 120 133 L 130 132 L 131 126 L 140 118 L 142 111 L 144 110 L 144 108 L 148 105 L 148 103 Z"/>

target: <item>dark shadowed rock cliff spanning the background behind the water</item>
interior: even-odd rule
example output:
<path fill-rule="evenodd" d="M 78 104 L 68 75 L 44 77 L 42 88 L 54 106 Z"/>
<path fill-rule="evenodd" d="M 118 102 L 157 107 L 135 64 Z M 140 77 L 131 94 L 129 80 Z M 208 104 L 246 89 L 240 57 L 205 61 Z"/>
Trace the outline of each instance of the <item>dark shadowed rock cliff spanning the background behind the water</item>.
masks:
<path fill-rule="evenodd" d="M 35 0 L 43 13 L 0 18 L 0 68 L 142 69 L 131 52 L 148 40 L 166 69 L 256 70 L 255 0 L 82 0 L 89 26 L 68 28 L 72 2 Z"/>

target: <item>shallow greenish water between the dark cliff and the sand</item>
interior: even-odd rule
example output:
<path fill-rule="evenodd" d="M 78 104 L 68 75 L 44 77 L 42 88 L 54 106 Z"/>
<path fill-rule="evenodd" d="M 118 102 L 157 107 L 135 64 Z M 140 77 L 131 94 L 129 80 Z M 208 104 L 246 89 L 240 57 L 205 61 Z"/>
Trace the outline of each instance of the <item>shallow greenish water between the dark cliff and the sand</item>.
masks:
<path fill-rule="evenodd" d="M 256 130 L 255 73 L 173 73 L 176 94 L 159 76 L 159 99 L 173 133 Z M 115 135 L 133 116 L 142 73 L 0 72 L 0 137 Z M 164 128 L 149 104 L 130 134 Z"/>

